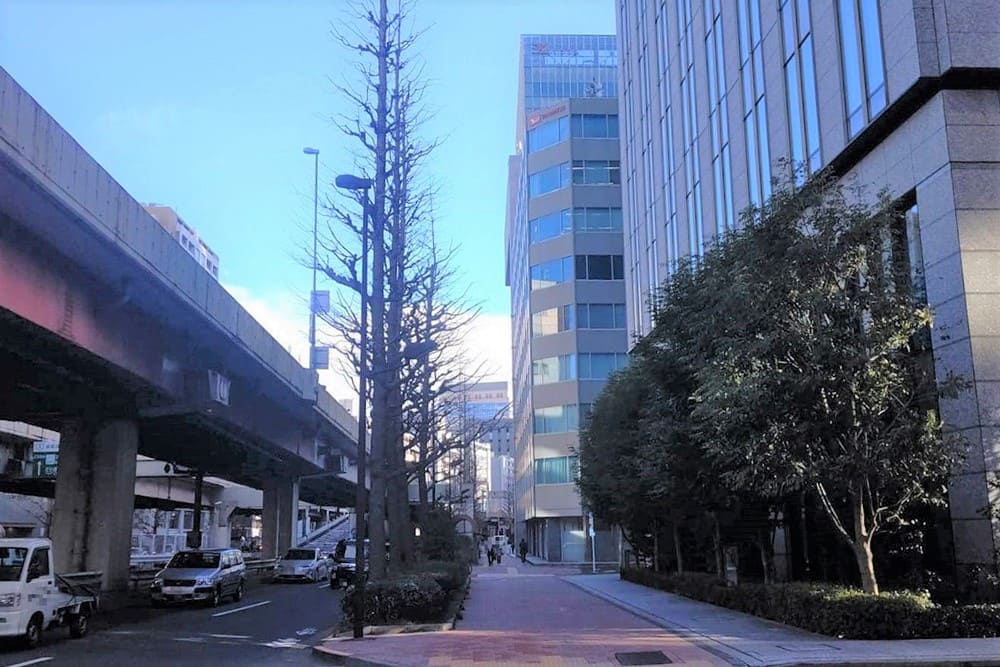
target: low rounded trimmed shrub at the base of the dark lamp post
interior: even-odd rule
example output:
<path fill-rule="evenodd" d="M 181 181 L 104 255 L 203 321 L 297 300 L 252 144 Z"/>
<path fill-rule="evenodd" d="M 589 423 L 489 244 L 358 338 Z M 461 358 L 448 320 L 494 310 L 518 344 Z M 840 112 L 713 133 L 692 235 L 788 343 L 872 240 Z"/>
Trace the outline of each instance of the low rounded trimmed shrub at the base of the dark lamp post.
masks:
<path fill-rule="evenodd" d="M 340 608 L 344 621 L 354 620 L 357 590 L 350 586 Z M 448 594 L 429 573 L 403 574 L 365 586 L 365 624 L 389 625 L 411 621 L 426 623 L 444 615 Z"/>

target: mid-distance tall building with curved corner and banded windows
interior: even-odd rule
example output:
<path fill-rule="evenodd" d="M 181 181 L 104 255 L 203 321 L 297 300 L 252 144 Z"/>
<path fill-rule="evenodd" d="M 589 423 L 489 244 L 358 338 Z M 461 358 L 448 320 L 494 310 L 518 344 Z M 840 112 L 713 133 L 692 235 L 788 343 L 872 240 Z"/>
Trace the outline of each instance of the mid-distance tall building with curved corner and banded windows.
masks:
<path fill-rule="evenodd" d="M 550 561 L 590 558 L 578 429 L 628 347 L 616 66 L 611 35 L 521 37 L 506 226 L 515 538 Z M 599 560 L 617 560 L 615 540 L 598 530 Z"/>

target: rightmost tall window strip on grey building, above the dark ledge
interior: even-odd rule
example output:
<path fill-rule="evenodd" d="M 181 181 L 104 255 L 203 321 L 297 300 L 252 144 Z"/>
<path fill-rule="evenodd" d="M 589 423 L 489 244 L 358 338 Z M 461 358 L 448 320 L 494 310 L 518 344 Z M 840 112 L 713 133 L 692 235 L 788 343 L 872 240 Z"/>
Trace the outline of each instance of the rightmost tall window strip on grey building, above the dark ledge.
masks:
<path fill-rule="evenodd" d="M 847 130 L 853 137 L 885 109 L 885 63 L 878 0 L 838 0 Z"/>

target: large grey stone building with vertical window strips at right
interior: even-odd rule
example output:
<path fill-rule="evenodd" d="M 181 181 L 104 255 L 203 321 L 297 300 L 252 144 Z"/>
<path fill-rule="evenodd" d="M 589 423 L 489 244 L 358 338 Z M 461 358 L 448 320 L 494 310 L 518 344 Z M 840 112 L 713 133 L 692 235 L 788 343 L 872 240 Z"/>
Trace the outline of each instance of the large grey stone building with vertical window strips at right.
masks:
<path fill-rule="evenodd" d="M 830 167 L 907 210 L 942 416 L 972 443 L 950 492 L 959 572 L 991 567 L 1000 469 L 1000 22 L 995 2 L 616 0 L 630 327 L 739 211 Z"/>

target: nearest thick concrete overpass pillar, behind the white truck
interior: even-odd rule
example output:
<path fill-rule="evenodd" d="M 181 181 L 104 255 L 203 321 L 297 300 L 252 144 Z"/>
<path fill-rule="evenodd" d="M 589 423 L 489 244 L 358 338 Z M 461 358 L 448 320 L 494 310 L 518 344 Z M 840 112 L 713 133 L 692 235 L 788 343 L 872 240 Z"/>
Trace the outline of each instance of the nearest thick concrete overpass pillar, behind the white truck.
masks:
<path fill-rule="evenodd" d="M 134 421 L 64 425 L 52 513 L 57 571 L 100 571 L 103 590 L 128 588 L 138 445 Z"/>

